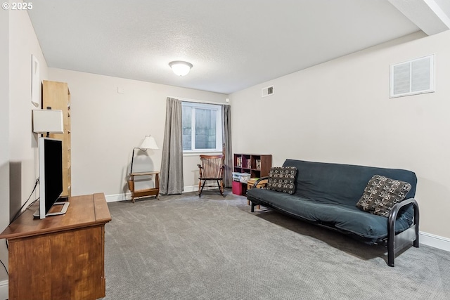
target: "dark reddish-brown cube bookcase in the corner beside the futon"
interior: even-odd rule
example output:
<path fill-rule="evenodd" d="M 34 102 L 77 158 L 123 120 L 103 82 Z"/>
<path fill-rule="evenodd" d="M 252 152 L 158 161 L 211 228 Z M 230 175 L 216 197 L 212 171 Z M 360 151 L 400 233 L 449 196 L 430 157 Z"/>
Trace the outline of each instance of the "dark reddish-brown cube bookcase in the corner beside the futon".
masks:
<path fill-rule="evenodd" d="M 272 155 L 263 154 L 234 154 L 233 171 L 248 173 L 250 178 L 268 176 L 272 167 Z"/>

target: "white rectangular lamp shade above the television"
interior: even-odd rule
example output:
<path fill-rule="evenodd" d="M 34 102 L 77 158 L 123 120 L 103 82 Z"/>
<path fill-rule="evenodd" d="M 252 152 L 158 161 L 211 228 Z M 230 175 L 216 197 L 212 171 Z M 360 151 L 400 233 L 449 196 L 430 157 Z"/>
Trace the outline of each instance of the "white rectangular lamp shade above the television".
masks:
<path fill-rule="evenodd" d="M 33 110 L 34 133 L 64 133 L 62 110 Z"/>

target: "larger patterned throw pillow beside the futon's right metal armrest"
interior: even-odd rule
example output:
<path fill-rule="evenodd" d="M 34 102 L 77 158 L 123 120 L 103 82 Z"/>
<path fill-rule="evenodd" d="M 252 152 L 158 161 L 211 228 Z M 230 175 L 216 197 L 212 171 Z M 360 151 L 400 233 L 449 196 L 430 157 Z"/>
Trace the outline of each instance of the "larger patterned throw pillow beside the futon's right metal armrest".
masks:
<path fill-rule="evenodd" d="M 356 207 L 371 214 L 389 216 L 394 204 L 403 201 L 409 190 L 411 184 L 407 182 L 374 175 L 364 188 Z"/>

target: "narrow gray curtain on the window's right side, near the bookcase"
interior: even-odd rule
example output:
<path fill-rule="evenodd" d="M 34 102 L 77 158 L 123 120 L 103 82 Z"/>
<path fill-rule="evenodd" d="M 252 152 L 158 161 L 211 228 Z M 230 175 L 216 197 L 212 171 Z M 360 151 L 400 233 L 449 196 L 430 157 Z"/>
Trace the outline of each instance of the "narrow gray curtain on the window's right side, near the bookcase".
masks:
<path fill-rule="evenodd" d="M 225 146 L 224 185 L 231 188 L 233 184 L 233 152 L 231 149 L 231 106 L 222 105 L 222 137 Z"/>

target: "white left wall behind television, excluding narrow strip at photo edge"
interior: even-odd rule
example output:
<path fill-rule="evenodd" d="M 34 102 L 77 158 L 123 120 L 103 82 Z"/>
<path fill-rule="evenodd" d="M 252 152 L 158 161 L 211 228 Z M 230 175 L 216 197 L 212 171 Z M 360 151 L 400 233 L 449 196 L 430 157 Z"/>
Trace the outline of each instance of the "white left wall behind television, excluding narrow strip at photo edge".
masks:
<path fill-rule="evenodd" d="M 11 11 L 9 18 L 9 155 L 11 214 L 32 192 L 36 180 L 37 135 L 32 133 L 31 67 L 32 55 L 40 64 L 40 77 L 47 66 L 39 41 L 26 11 Z"/>

